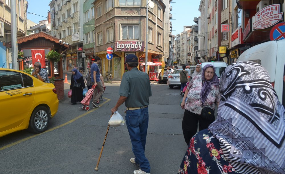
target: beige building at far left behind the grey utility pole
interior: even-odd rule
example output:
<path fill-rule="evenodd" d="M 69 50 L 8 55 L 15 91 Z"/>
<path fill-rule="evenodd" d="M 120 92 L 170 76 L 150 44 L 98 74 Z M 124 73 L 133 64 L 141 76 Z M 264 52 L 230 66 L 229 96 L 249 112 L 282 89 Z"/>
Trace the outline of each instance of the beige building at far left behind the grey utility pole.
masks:
<path fill-rule="evenodd" d="M 12 69 L 11 49 L 11 1 L 0 0 L 0 67 Z M 27 34 L 27 8 L 26 0 L 16 1 L 17 37 Z"/>

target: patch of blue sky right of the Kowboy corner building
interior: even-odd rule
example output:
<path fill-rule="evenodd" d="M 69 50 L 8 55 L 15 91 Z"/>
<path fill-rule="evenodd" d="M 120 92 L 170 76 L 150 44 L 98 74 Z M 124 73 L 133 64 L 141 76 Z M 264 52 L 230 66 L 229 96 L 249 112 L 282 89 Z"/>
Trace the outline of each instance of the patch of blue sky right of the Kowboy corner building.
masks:
<path fill-rule="evenodd" d="M 184 26 L 192 26 L 194 17 L 200 16 L 200 0 L 173 0 L 172 1 L 172 35 L 183 32 Z M 175 31 L 174 31 L 175 30 Z"/>

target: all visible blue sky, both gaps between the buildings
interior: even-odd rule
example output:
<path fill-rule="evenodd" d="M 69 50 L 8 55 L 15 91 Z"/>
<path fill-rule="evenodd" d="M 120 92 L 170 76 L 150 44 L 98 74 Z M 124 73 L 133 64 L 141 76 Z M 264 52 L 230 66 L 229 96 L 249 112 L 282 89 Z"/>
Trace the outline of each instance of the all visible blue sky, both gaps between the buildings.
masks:
<path fill-rule="evenodd" d="M 28 14 L 27 19 L 38 23 L 41 20 L 45 20 L 50 10 L 50 0 L 28 0 L 28 12 L 35 13 L 37 15 Z M 196 23 L 193 22 L 194 17 L 200 16 L 200 11 L 198 11 L 200 5 L 199 0 L 173 0 L 172 1 L 172 35 L 177 35 L 183 32 L 184 26 L 192 26 Z M 44 17 L 40 17 L 40 16 Z M 175 31 L 174 31 L 175 30 Z"/>

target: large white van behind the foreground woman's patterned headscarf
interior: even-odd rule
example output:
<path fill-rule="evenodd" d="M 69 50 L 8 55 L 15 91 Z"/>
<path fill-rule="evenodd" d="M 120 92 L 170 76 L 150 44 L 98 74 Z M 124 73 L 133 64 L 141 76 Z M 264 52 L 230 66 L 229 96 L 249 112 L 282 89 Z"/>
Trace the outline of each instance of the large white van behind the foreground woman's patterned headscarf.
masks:
<path fill-rule="evenodd" d="M 237 62 L 251 60 L 261 64 L 269 73 L 271 84 L 274 87 L 279 101 L 285 106 L 284 82 L 285 75 L 285 39 L 268 41 L 255 45 L 243 52 Z"/>

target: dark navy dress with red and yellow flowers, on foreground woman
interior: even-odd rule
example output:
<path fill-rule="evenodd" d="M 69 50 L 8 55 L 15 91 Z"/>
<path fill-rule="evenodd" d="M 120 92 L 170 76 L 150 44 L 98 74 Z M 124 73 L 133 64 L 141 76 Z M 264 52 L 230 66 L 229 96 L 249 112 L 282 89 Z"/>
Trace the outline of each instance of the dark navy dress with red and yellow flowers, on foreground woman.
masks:
<path fill-rule="evenodd" d="M 192 137 L 182 160 L 179 174 L 236 174 L 226 161 L 219 141 L 205 129 Z"/>

